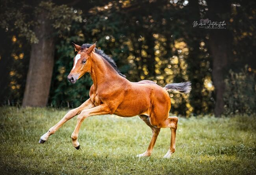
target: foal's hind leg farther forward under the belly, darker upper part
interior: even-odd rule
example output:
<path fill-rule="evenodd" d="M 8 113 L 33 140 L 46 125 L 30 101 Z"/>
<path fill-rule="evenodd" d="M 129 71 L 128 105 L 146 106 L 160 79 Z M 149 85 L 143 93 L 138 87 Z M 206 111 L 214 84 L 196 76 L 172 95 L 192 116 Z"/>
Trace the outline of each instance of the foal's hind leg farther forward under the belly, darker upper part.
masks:
<path fill-rule="evenodd" d="M 149 122 L 149 117 L 148 116 L 140 115 L 139 117 L 151 128 L 152 138 L 151 138 L 151 141 L 150 141 L 150 144 L 148 146 L 147 151 L 145 151 L 145 153 L 137 155 L 137 157 L 148 157 L 152 153 L 152 150 L 153 150 L 154 145 L 156 143 L 157 136 L 160 132 L 160 128 L 151 125 L 150 122 Z"/>

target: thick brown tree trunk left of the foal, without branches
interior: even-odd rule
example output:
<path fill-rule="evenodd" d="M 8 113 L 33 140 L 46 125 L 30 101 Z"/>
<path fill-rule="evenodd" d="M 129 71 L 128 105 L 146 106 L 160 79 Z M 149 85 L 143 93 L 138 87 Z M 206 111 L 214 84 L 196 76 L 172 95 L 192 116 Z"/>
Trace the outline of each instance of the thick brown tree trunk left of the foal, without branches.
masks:
<path fill-rule="evenodd" d="M 32 44 L 22 107 L 45 107 L 48 102 L 54 66 L 54 29 L 46 15 L 47 11 L 43 10 L 37 16 L 34 32 L 39 42 Z"/>

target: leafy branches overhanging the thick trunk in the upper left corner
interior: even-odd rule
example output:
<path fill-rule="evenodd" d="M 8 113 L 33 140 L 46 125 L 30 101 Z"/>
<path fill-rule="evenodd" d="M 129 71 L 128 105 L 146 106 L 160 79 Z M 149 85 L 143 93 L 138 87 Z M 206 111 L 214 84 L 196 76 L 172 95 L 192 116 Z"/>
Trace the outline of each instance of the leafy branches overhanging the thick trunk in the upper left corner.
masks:
<path fill-rule="evenodd" d="M 1 15 L 0 27 L 7 31 L 16 31 L 19 37 L 25 37 L 30 43 L 37 43 L 38 39 L 33 31 L 33 27 L 38 25 L 34 20 L 34 15 L 47 11 L 47 16 L 52 20 L 52 26 L 58 34 L 69 31 L 73 21 L 82 22 L 82 11 L 74 11 L 67 5 L 57 5 L 51 0 L 41 1 L 37 6 L 33 6 L 26 1 L 3 0 L 0 5 Z M 29 12 L 28 12 L 29 11 Z"/>

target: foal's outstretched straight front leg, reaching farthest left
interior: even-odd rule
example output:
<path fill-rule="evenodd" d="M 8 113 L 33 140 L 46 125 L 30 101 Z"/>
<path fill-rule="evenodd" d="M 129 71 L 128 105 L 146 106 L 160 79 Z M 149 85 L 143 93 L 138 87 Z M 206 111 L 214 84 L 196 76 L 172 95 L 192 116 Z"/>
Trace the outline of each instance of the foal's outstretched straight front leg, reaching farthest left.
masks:
<path fill-rule="evenodd" d="M 67 122 L 77 114 L 80 114 L 82 110 L 92 107 L 95 107 L 95 105 L 91 102 L 91 99 L 89 98 L 82 105 L 80 105 L 80 107 L 70 110 L 56 125 L 51 127 L 45 134 L 43 134 L 43 136 L 41 136 L 39 144 L 45 143 L 50 135 L 54 134 L 65 122 Z"/>

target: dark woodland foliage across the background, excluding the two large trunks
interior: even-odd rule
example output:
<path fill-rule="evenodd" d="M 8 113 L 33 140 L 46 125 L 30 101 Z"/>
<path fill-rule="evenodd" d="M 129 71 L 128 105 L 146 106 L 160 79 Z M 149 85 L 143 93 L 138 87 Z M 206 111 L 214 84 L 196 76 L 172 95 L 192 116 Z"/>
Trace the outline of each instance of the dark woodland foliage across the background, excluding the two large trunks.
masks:
<path fill-rule="evenodd" d="M 97 47 L 115 60 L 121 72 L 130 81 L 149 79 L 162 87 L 167 83 L 191 81 L 192 91 L 189 96 L 170 94 L 172 113 L 191 116 L 213 111 L 215 94 L 211 77 L 212 57 L 208 44 L 210 30 L 193 28 L 192 25 L 194 20 L 200 20 L 206 15 L 208 7 L 205 2 L 199 1 L 198 4 L 190 1 L 187 4 L 181 0 L 108 2 L 93 0 L 74 1 L 72 5 L 54 2 L 1 1 L 0 26 L 4 29 L 1 37 L 7 36 L 5 39 L 10 40 L 15 35 L 16 43 L 22 43 L 21 48 L 13 44 L 13 51 L 0 53 L 0 58 L 7 58 L 7 62 L 11 65 L 7 67 L 5 74 L 9 76 L 5 88 L 9 89 L 9 92 L 6 92 L 8 90 L 3 92 L 6 99 L 10 101 L 22 99 L 30 44 L 37 42 L 32 30 L 38 25 L 38 22 L 34 21 L 34 16 L 44 9 L 48 12 L 47 17 L 52 20 L 55 29 L 52 37 L 56 44 L 48 105 L 77 107 L 89 97 L 88 92 L 92 85 L 89 74 L 85 74 L 75 85 L 67 81 L 67 75 L 73 64 L 72 58 L 75 55 L 70 43 L 81 45 L 98 41 Z M 252 50 L 256 46 L 256 35 L 253 35 L 256 19 L 253 17 L 255 2 L 232 0 L 230 3 L 237 3 L 239 6 L 233 4 L 232 11 L 227 11 L 230 15 L 227 29 L 232 31 L 234 43 L 230 43 L 233 52 L 230 57 L 233 59 L 226 69 L 232 68 L 237 71 L 237 67 L 249 63 L 253 70 L 255 68 L 253 60 L 256 55 L 256 50 Z M 9 51 L 9 47 L 10 44 L 3 44 L 2 50 Z M 16 55 L 24 53 L 26 61 L 15 59 L 13 53 Z M 11 76 L 11 71 L 17 74 Z M 231 87 L 231 80 L 227 81 L 228 86 Z M 16 82 L 15 87 L 20 88 L 11 89 L 14 86 L 11 82 Z M 231 99 L 225 99 L 226 108 L 230 106 L 232 109 L 227 109 L 227 113 L 234 113 L 237 106 L 243 105 L 237 105 L 241 102 L 234 98 L 232 91 L 228 94 Z M 250 101 L 251 98 L 252 96 Z M 243 101 L 246 102 L 246 98 Z M 251 113 L 254 108 L 249 105 L 253 104 L 255 102 L 247 104 L 247 107 L 242 107 L 239 111 Z"/>

